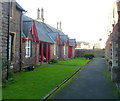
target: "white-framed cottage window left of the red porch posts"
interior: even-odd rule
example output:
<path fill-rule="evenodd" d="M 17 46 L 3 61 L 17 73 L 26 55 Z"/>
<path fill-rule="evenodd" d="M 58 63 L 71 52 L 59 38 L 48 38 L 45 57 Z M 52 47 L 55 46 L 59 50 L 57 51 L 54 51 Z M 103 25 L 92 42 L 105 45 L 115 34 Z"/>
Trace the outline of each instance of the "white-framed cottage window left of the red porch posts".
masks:
<path fill-rule="evenodd" d="M 25 43 L 25 57 L 31 57 L 31 49 L 32 49 L 32 40 L 28 40 Z"/>

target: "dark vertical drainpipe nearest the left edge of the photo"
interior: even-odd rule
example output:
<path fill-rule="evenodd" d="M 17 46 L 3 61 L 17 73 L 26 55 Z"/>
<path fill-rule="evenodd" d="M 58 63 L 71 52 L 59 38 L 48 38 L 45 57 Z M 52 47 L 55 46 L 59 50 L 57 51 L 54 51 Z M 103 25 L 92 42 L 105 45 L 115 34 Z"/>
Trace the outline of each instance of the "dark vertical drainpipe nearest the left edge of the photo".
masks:
<path fill-rule="evenodd" d="M 9 34 L 10 34 L 10 0 L 8 2 L 8 35 L 7 35 L 7 77 L 6 79 L 8 80 L 9 78 Z"/>

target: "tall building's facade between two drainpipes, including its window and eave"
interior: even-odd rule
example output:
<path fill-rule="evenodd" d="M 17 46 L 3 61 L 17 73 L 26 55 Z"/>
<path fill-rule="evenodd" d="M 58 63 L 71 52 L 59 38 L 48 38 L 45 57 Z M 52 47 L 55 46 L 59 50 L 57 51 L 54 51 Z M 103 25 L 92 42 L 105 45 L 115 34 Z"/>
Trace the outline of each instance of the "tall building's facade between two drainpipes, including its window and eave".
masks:
<path fill-rule="evenodd" d="M 25 10 L 17 2 L 11 2 L 9 22 L 9 60 L 14 72 L 21 71 L 22 68 L 21 34 L 23 11 Z"/>

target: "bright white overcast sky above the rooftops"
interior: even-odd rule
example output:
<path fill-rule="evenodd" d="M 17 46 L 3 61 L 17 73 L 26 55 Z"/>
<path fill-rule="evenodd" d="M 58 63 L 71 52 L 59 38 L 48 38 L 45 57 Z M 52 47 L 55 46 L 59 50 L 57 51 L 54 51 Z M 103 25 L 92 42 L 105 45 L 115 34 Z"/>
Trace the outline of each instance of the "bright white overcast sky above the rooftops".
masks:
<path fill-rule="evenodd" d="M 37 9 L 44 9 L 45 23 L 56 28 L 62 22 L 62 31 L 77 41 L 96 42 L 107 36 L 108 14 L 113 0 L 17 0 L 36 19 Z"/>

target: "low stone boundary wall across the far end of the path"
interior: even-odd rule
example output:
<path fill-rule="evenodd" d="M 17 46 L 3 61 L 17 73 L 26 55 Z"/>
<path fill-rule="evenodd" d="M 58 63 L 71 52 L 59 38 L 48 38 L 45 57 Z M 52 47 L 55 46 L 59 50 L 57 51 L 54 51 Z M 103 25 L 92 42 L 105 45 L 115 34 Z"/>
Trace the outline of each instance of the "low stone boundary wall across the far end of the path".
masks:
<path fill-rule="evenodd" d="M 105 56 L 104 50 L 85 50 L 85 49 L 75 49 L 75 57 L 82 57 L 85 54 L 94 54 L 95 57 Z"/>

